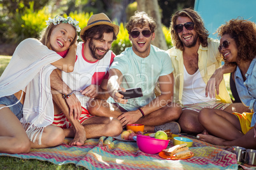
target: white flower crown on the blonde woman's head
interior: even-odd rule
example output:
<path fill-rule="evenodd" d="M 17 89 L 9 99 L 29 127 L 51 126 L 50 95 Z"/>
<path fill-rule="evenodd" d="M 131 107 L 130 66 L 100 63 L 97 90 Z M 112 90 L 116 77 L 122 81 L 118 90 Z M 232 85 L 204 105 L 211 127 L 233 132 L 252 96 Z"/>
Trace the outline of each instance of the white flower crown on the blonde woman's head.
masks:
<path fill-rule="evenodd" d="M 52 18 L 48 18 L 49 20 L 46 20 L 46 25 L 50 25 L 50 23 L 53 23 L 54 25 L 57 25 L 59 23 L 69 23 L 72 24 L 76 27 L 76 31 L 80 32 L 80 27 L 78 25 L 78 21 L 76 21 L 75 19 L 73 20 L 70 16 L 68 16 L 67 18 L 64 18 L 62 16 L 55 16 L 53 19 Z"/>

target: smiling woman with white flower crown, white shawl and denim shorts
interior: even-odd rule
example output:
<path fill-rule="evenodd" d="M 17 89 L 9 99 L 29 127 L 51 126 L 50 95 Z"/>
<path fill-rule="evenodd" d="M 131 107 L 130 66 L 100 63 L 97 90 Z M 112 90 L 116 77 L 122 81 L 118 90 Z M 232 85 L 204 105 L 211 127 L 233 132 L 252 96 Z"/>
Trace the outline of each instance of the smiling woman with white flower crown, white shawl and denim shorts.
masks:
<path fill-rule="evenodd" d="M 0 77 L 0 152 L 24 153 L 54 147 L 64 140 L 63 130 L 51 126 L 50 74 L 56 67 L 73 71 L 80 27 L 70 17 L 55 16 L 46 23 L 40 41 L 20 42 Z"/>

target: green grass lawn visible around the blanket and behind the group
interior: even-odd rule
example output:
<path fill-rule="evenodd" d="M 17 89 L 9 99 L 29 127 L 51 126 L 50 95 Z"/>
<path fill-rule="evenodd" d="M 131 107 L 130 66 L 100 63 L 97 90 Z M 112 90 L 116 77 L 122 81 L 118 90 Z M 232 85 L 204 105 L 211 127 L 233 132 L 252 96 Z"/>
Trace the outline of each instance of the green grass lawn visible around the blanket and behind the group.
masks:
<path fill-rule="evenodd" d="M 0 55 L 0 76 L 3 74 L 5 67 L 11 60 L 11 56 L 1 56 Z M 229 76 L 230 74 L 225 74 L 224 79 L 229 91 L 231 94 L 231 90 L 229 88 Z M 34 160 L 34 159 L 18 159 L 14 157 L 0 157 L 0 169 L 85 169 L 83 167 L 76 167 L 74 164 L 66 164 L 66 165 L 55 165 L 51 162 Z"/>

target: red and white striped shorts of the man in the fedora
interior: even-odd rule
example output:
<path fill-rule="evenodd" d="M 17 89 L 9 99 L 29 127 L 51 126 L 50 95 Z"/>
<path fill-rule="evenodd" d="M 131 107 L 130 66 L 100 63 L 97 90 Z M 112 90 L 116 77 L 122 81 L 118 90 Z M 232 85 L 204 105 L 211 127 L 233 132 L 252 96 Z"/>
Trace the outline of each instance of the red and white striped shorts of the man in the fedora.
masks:
<path fill-rule="evenodd" d="M 82 114 L 80 116 L 79 122 L 83 124 L 84 121 L 86 121 L 87 119 L 90 119 L 91 117 L 95 117 L 95 115 L 90 115 L 88 110 L 82 107 Z M 62 129 L 72 128 L 71 123 L 68 121 L 68 119 L 66 118 L 63 112 L 61 112 L 58 115 L 54 115 L 54 120 L 52 125 L 58 126 Z"/>

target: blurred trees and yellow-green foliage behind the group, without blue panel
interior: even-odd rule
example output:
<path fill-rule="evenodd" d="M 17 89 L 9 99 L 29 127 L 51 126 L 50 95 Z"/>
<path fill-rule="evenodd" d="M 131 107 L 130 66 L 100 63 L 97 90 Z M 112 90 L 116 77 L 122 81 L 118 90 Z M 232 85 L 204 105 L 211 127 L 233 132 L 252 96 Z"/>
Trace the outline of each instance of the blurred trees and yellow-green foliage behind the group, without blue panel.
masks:
<path fill-rule="evenodd" d="M 92 14 L 106 13 L 110 20 L 120 26 L 117 41 L 112 50 L 120 54 L 131 46 L 125 24 L 134 11 L 146 11 L 157 22 L 157 38 L 153 41 L 161 49 L 171 48 L 169 23 L 171 15 L 182 8 L 194 7 L 194 0 L 1 0 L 0 3 L 0 55 L 12 55 L 22 40 L 39 38 L 46 27 L 46 20 L 56 15 L 71 16 L 81 29 L 87 25 Z M 80 33 L 79 33 L 80 34 Z M 82 41 L 78 39 L 78 41 Z"/>

